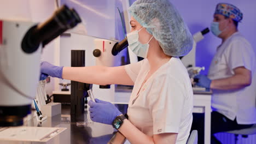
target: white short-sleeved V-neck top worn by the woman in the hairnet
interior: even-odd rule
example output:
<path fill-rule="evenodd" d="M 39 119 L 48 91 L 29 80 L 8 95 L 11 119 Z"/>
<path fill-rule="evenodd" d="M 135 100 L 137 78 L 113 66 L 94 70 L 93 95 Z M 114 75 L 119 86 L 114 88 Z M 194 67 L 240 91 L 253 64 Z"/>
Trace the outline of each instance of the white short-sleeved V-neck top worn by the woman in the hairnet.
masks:
<path fill-rule="evenodd" d="M 176 143 L 186 143 L 193 120 L 193 90 L 187 69 L 179 58 L 172 57 L 141 88 L 149 69 L 148 59 L 125 66 L 135 82 L 129 120 L 146 135 L 178 133 Z"/>

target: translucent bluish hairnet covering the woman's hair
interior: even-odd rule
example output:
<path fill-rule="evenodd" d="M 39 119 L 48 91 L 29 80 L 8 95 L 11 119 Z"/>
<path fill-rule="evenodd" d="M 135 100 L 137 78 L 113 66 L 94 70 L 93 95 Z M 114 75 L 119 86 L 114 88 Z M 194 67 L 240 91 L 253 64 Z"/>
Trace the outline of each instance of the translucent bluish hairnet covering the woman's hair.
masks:
<path fill-rule="evenodd" d="M 185 56 L 192 49 L 193 37 L 170 1 L 137 0 L 129 13 L 158 40 L 166 55 Z"/>

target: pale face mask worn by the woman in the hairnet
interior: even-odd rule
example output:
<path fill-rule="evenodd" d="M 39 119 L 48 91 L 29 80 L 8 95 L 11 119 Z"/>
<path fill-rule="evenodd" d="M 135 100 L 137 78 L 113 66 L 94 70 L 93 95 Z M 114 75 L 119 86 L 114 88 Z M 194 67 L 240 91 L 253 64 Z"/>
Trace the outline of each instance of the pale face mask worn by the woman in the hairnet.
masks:
<path fill-rule="evenodd" d="M 142 27 L 142 28 L 144 28 L 144 27 Z M 141 29 L 139 29 L 139 31 L 141 31 Z M 147 44 L 141 44 L 138 40 L 138 38 L 139 38 L 138 32 L 139 31 L 133 31 L 133 32 L 127 34 L 127 40 L 128 40 L 128 44 L 129 44 L 128 48 L 132 52 L 134 52 L 138 57 L 146 58 L 147 54 L 148 54 L 148 48 L 149 48 L 148 43 L 152 40 L 153 36 L 150 38 L 150 40 L 148 41 Z"/>

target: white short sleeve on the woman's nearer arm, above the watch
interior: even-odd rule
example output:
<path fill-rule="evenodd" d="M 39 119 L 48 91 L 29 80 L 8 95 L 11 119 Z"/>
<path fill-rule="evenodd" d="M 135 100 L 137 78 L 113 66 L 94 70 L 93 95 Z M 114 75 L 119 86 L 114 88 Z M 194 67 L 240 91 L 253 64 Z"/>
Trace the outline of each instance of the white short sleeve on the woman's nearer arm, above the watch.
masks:
<path fill-rule="evenodd" d="M 152 86 L 149 111 L 153 118 L 153 134 L 178 133 L 185 99 L 184 86 L 166 74 L 156 77 Z"/>

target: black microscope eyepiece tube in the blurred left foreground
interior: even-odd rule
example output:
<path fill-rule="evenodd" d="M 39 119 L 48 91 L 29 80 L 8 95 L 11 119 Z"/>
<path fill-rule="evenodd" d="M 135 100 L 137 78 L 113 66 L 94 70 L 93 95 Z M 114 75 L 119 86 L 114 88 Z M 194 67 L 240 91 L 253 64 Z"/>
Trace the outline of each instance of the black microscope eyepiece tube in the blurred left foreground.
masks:
<path fill-rule="evenodd" d="M 26 53 L 33 53 L 42 43 L 43 47 L 61 35 L 67 29 L 77 26 L 82 22 L 77 11 L 69 9 L 67 5 L 63 5 L 56 10 L 50 19 L 39 25 L 31 27 L 22 40 L 22 50 Z"/>

